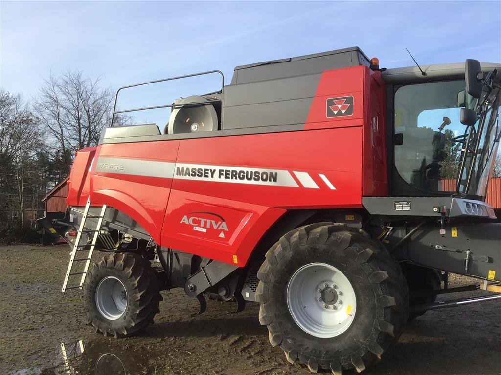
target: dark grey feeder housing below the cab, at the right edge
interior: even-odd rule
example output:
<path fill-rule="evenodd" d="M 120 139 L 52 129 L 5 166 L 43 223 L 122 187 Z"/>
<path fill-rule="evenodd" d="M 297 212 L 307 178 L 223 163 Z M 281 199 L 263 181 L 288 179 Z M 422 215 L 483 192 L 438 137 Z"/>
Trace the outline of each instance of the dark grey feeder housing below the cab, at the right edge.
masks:
<path fill-rule="evenodd" d="M 423 226 L 406 245 L 394 254 L 399 260 L 409 260 L 448 272 L 501 281 L 501 223 L 454 224 L 440 235 L 438 227 Z M 403 237 L 403 229 L 395 232 Z"/>

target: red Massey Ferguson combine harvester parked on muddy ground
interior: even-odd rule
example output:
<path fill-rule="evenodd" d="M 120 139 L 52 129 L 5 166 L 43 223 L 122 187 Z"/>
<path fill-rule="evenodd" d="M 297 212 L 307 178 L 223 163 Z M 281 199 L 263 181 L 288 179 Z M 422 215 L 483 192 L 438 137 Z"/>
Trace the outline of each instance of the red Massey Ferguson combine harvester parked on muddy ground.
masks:
<path fill-rule="evenodd" d="M 435 302 L 499 291 L 501 223 L 484 200 L 500 67 L 380 69 L 353 47 L 239 66 L 229 85 L 216 70 L 120 88 L 116 98 L 222 79 L 168 105 L 117 110 L 115 99 L 114 118 L 170 117 L 163 131 L 111 126 L 77 152 L 63 292 L 83 289 L 89 323 L 115 337 L 152 323 L 164 289 L 182 287 L 199 313 L 204 295 L 236 301 L 235 312 L 259 302 L 289 362 L 363 371 L 426 310 L 501 298 Z M 441 191 L 446 178 L 454 191 Z M 94 250 L 109 254 L 91 266 Z M 449 288 L 449 272 L 484 281 Z"/>

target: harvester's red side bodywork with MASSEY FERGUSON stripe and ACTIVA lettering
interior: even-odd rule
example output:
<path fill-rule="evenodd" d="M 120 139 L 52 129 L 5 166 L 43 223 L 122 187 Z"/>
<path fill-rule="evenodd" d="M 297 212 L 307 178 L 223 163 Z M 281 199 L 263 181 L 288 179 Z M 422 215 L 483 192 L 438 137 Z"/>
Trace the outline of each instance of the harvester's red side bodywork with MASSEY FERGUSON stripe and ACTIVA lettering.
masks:
<path fill-rule="evenodd" d="M 97 172 L 96 161 L 91 201 L 127 213 L 163 246 L 243 266 L 287 210 L 360 208 L 364 194 L 386 194 L 383 95 L 367 67 L 325 71 L 303 131 L 102 144 L 96 160 L 171 172 Z M 353 96 L 353 114 L 327 117 L 327 99 L 339 96 Z M 72 185 L 90 165 L 81 152 Z M 70 195 L 85 204 L 84 191 Z"/>

